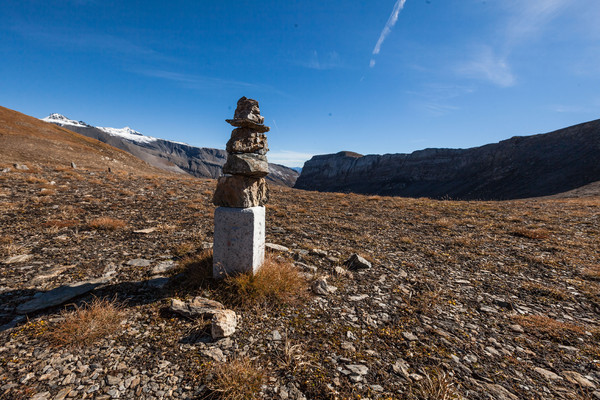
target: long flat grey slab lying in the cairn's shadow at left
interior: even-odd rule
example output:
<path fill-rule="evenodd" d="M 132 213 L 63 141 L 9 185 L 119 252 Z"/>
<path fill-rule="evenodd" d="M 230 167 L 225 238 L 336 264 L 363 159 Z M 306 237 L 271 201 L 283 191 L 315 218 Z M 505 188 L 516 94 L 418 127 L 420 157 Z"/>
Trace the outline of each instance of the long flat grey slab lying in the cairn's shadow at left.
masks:
<path fill-rule="evenodd" d="M 48 292 L 39 292 L 33 299 L 18 306 L 16 309 L 17 314 L 29 314 L 49 307 L 61 305 L 77 296 L 91 292 L 109 280 L 110 277 L 103 277 L 72 285 L 60 286 Z"/>

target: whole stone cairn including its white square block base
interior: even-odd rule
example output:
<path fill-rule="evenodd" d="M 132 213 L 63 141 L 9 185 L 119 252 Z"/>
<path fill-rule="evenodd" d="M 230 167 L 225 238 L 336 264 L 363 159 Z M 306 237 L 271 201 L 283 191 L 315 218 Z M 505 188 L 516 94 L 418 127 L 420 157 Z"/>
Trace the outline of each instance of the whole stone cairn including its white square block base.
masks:
<path fill-rule="evenodd" d="M 213 196 L 215 233 L 213 277 L 240 272 L 256 273 L 265 257 L 265 203 L 269 198 L 267 135 L 258 101 L 242 97 L 233 119 L 235 129 L 227 142 L 224 176 Z"/>

